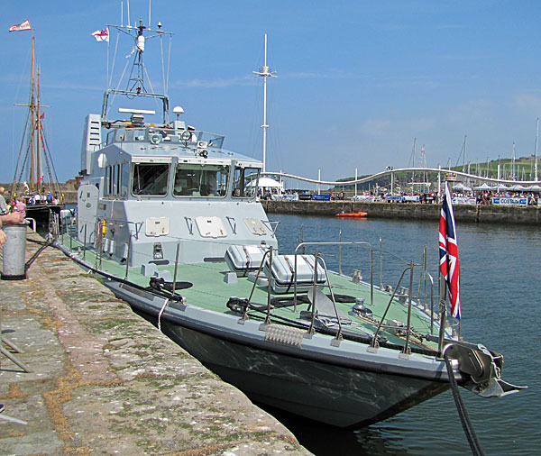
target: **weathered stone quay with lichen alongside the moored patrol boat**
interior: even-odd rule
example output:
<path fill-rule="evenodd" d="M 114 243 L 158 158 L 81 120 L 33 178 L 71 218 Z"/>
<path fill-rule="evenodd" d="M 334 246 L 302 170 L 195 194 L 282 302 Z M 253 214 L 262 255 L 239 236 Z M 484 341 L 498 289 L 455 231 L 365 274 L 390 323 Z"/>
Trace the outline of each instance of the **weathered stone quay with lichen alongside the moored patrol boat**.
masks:
<path fill-rule="evenodd" d="M 0 454 L 310 454 L 60 251 L 0 281 L 0 302 L 32 369 L 0 355 Z"/>

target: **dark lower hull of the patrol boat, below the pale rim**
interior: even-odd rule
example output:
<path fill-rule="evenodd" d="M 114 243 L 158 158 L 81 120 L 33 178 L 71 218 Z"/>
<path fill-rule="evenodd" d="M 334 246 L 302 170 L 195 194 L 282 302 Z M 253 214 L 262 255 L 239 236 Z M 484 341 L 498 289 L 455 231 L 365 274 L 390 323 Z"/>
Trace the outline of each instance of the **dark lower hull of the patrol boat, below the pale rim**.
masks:
<path fill-rule="evenodd" d="M 255 402 L 358 429 L 434 397 L 448 384 L 304 360 L 162 324 L 164 333 Z"/>

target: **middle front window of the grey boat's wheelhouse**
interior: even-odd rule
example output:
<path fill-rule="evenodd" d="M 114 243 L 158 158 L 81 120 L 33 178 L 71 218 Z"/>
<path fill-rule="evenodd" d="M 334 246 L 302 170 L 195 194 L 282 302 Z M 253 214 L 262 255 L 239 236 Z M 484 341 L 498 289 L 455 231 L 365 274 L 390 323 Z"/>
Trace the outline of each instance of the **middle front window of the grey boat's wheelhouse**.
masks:
<path fill-rule="evenodd" d="M 229 166 L 179 164 L 175 170 L 173 196 L 222 197 L 227 193 Z"/>

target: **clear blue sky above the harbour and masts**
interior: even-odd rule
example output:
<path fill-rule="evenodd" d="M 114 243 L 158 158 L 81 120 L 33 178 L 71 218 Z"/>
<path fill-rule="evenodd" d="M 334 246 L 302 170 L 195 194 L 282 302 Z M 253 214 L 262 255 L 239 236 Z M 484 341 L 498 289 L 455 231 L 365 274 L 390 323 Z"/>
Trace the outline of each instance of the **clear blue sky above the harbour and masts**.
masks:
<path fill-rule="evenodd" d="M 82 126 L 99 113 L 106 45 L 91 32 L 120 22 L 120 1 L 2 2 L 0 181 L 9 182 L 29 100 L 30 19 L 41 66 L 41 103 L 60 180 L 79 170 Z M 130 2 L 146 23 L 148 0 Z M 126 2 L 124 0 L 124 22 Z M 331 180 L 406 167 L 414 138 L 428 166 L 534 151 L 541 115 L 536 1 L 382 0 L 269 2 L 152 0 L 151 25 L 173 32 L 169 95 L 197 129 L 261 158 L 263 61 L 269 34 L 268 170 Z M 153 48 L 149 44 L 146 54 Z M 124 66 L 126 52 L 117 57 Z M 147 55 L 150 61 L 151 57 Z M 149 68 L 161 90 L 160 68 Z M 462 163 L 462 158 L 460 159 Z"/>

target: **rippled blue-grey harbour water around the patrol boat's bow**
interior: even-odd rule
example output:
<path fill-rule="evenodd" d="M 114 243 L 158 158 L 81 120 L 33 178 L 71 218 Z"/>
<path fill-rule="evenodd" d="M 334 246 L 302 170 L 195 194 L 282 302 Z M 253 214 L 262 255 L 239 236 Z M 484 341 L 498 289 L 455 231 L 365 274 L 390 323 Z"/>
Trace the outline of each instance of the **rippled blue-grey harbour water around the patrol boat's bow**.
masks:
<path fill-rule="evenodd" d="M 436 278 L 438 225 L 433 222 L 385 220 L 339 220 L 271 214 L 280 222 L 277 235 L 280 251 L 293 251 L 301 225 L 305 241 L 370 242 L 392 251 L 405 260 L 421 261 L 428 249 L 428 269 Z M 477 225 L 457 226 L 461 265 L 461 293 L 464 339 L 482 342 L 503 353 L 504 378 L 529 388 L 516 395 L 483 399 L 461 388 L 475 432 L 486 454 L 534 455 L 541 452 L 541 231 L 536 227 Z M 338 252 L 327 249 L 329 269 L 338 268 Z M 370 278 L 366 251 L 342 252 L 342 269 L 361 269 Z M 387 264 L 388 263 L 388 264 Z M 384 284 L 396 283 L 399 265 L 384 260 L 393 275 L 384 275 Z M 380 281 L 379 266 L 374 272 Z M 418 277 L 416 277 L 418 283 Z M 407 284 L 406 284 L 407 285 Z M 417 285 L 415 286 L 417 289 Z M 346 432 L 300 420 L 294 415 L 274 413 L 316 455 L 462 455 L 470 453 L 451 391 L 426 401 L 382 423 L 361 431 Z"/>

